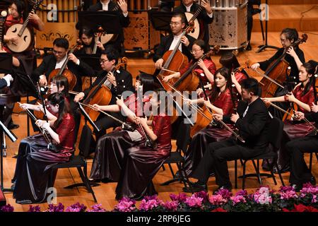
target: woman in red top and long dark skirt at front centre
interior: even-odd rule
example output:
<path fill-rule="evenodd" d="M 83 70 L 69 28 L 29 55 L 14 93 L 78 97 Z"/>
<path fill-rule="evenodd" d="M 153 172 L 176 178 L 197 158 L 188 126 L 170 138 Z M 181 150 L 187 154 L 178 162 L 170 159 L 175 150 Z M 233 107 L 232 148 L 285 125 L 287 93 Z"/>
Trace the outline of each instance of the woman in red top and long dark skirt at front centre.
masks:
<path fill-rule="evenodd" d="M 166 97 L 163 89 L 153 93 L 151 97 L 153 120 L 136 117 L 136 124 L 142 127 L 143 133 L 155 144 L 150 146 L 143 142 L 126 150 L 124 167 L 116 188 L 117 199 L 122 197 L 141 199 L 143 196 L 158 194 L 152 179 L 169 157 L 171 150 L 171 124 L 170 116 L 165 112 Z"/>

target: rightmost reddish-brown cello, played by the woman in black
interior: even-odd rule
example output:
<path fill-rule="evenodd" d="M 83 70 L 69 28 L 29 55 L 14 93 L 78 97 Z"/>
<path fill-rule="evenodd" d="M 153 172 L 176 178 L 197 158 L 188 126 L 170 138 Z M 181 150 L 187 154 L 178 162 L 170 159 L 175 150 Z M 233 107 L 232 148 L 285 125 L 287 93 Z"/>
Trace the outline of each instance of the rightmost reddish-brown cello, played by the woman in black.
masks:
<path fill-rule="evenodd" d="M 302 34 L 302 38 L 293 42 L 290 47 L 295 48 L 298 44 L 306 42 L 308 39 L 307 34 Z M 284 88 L 283 83 L 287 80 L 288 82 L 293 81 L 295 78 L 290 78 L 290 68 L 287 61 L 285 61 L 285 56 L 288 49 L 284 49 L 283 54 L 276 61 L 273 61 L 265 73 L 259 73 L 263 78 L 261 78 L 261 97 L 274 97 L 278 87 Z"/>

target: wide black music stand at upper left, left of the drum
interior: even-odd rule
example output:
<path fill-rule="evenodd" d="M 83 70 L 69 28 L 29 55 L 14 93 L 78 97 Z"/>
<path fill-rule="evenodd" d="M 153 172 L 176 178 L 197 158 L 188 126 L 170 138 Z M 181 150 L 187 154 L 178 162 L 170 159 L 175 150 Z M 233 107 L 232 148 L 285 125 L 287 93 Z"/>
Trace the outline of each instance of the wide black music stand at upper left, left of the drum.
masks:
<path fill-rule="evenodd" d="M 78 26 L 80 30 L 88 27 L 93 32 L 98 32 L 98 28 L 102 27 L 107 34 L 119 34 L 122 25 L 118 15 L 117 11 L 79 11 Z"/>

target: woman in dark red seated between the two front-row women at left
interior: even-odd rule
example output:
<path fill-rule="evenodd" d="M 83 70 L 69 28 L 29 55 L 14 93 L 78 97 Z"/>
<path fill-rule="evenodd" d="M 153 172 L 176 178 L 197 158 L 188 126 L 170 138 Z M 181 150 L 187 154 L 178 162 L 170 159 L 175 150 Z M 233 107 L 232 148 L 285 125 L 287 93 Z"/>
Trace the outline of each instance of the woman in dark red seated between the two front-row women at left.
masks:
<path fill-rule="evenodd" d="M 120 172 L 124 167 L 124 156 L 127 149 L 139 143 L 145 143 L 146 137 L 143 136 L 141 127 L 135 124 L 135 119 L 136 117 L 143 117 L 144 112 L 150 109 L 149 91 L 153 88 L 153 76 L 141 73 L 136 77 L 136 93 L 130 95 L 124 102 L 122 98 L 117 98 L 115 105 L 93 105 L 105 112 L 124 113 L 127 117 L 127 123 L 136 127 L 136 130 L 128 131 L 127 129 L 117 128 L 98 140 L 90 171 L 91 179 L 102 180 L 102 182 L 118 182 Z"/>

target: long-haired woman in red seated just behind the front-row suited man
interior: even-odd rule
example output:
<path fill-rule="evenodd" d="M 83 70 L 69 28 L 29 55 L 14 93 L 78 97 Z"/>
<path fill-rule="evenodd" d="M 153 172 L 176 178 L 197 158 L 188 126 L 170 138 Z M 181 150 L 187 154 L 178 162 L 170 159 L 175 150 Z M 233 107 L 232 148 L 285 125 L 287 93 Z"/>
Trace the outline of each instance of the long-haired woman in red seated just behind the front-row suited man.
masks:
<path fill-rule="evenodd" d="M 220 68 L 216 71 L 215 81 L 211 92 L 211 102 L 204 98 L 195 100 L 196 102 L 204 102 L 206 107 L 212 109 L 216 114 L 230 115 L 234 113 L 235 99 L 232 94 L 232 81 L 230 72 L 226 68 Z M 192 100 L 192 102 L 194 102 Z M 229 125 L 231 127 L 231 125 Z M 231 132 L 221 128 L 219 125 L 212 126 L 209 124 L 206 128 L 197 132 L 189 145 L 185 155 L 184 169 L 190 175 L 208 148 L 208 144 L 215 141 L 222 141 L 231 136 Z"/>

